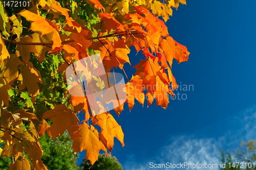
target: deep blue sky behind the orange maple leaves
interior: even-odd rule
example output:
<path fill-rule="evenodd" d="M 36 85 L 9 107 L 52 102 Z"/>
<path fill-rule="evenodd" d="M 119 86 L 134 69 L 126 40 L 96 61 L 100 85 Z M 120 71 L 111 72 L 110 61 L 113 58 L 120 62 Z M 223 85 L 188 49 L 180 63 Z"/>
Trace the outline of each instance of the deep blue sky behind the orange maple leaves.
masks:
<path fill-rule="evenodd" d="M 220 163 L 218 147 L 231 151 L 256 135 L 256 1 L 187 1 L 174 9 L 166 26 L 190 52 L 174 61 L 172 72 L 186 100 L 171 100 L 165 110 L 153 103 L 127 104 L 119 118 L 124 144 L 115 139 L 112 155 L 124 167 L 152 169 L 150 162 Z M 142 58 L 132 49 L 132 66 Z M 136 71 L 129 64 L 126 74 Z M 119 71 L 121 72 L 121 71 Z M 184 95 L 185 97 L 185 95 Z M 84 158 L 80 155 L 79 162 Z"/>

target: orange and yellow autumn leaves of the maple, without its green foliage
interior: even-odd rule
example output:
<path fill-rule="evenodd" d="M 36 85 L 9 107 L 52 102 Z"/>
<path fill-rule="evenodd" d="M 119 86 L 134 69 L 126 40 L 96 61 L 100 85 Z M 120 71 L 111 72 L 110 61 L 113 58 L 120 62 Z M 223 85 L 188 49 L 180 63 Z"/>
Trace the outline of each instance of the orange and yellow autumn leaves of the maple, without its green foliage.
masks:
<path fill-rule="evenodd" d="M 75 61 L 92 55 L 89 51 L 92 49 L 93 53 L 101 53 L 106 72 L 119 67 L 125 73 L 123 64 L 130 63 L 130 47 L 135 46 L 137 52 L 142 52 L 143 59 L 135 66 L 135 75 L 125 85 L 126 103 L 130 110 L 135 104 L 135 99 L 143 105 L 145 96 L 148 106 L 156 99 L 156 105 L 166 108 L 169 103 L 168 94 L 174 95 L 173 89 L 177 84 L 171 71 L 173 59 L 179 63 L 187 61 L 189 52 L 185 46 L 169 36 L 164 22 L 153 14 L 167 20 L 172 10 L 170 7 L 177 8 L 179 3 L 185 4 L 185 0 L 170 0 L 165 4 L 160 1 L 123 0 L 111 1 L 109 4 L 105 1 L 89 1 L 99 16 L 95 28 L 80 25 L 77 19 L 70 17 L 69 10 L 62 8 L 58 2 L 41 0 L 39 6 L 20 11 L 8 18 L 15 26 L 12 30 L 8 30 L 7 27 L 2 30 L 5 38 L 0 38 L 0 140 L 5 141 L 5 144 L 0 148 L 0 152 L 2 156 L 12 154 L 14 157 L 11 169 L 20 166 L 30 169 L 30 163 L 24 157 L 25 152 L 29 154 L 29 159 L 32 159 L 33 169 L 47 169 L 40 159 L 43 151 L 38 142 L 38 138 L 45 132 L 55 139 L 68 130 L 74 141 L 74 152 L 85 150 L 86 160 L 90 160 L 92 164 L 97 160 L 99 150 L 106 153 L 109 150 L 111 153 L 114 137 L 122 146 L 124 145 L 121 126 L 109 112 L 93 116 L 89 107 L 91 104 L 86 96 L 71 95 L 68 98 L 68 105 L 53 106 L 39 120 L 36 114 L 28 110 L 8 111 L 10 89 L 13 88 L 11 85 L 15 80 L 19 80 L 18 91 L 27 88 L 32 105 L 40 94 L 38 83 L 43 82 L 40 71 L 30 62 L 31 54 L 39 63 L 45 60 L 46 52 L 60 55 L 65 62 L 59 65 L 58 72 L 63 72 Z M 153 14 L 141 7 L 143 4 L 152 9 Z M 40 15 L 38 7 L 53 14 L 51 20 Z M 65 16 L 63 23 L 57 22 L 60 15 Z M 24 28 L 21 17 L 25 17 L 31 23 L 29 30 L 33 34 L 30 36 L 22 36 Z M 7 26 L 7 22 L 5 25 Z M 7 36 L 10 33 L 16 34 L 18 38 L 12 40 Z M 9 54 L 5 42 L 16 44 L 14 54 Z M 18 58 L 19 56 L 22 60 Z M 63 80 L 66 81 L 66 77 L 63 77 Z M 143 90 L 146 90 L 145 94 Z M 85 117 L 83 122 L 76 116 L 76 112 L 81 110 Z M 123 104 L 114 110 L 119 115 L 123 110 Z M 38 120 L 39 123 L 34 126 L 31 119 Z M 52 120 L 51 126 L 46 119 Z M 24 120 L 28 120 L 29 128 L 23 125 Z M 92 125 L 89 125 L 89 120 Z M 98 125 L 101 131 L 98 132 L 94 125 Z"/>

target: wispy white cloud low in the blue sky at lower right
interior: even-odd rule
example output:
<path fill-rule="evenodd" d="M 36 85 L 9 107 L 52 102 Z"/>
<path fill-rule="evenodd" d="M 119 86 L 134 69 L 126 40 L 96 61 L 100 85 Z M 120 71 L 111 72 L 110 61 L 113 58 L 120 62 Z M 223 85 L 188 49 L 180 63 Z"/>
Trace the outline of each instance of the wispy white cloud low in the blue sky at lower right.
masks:
<path fill-rule="evenodd" d="M 166 145 L 163 146 L 155 156 L 147 157 L 143 162 L 137 162 L 136 155 L 130 155 L 128 161 L 123 165 L 123 167 L 125 170 L 154 169 L 150 168 L 150 162 L 153 162 L 154 164 L 162 164 L 166 162 L 172 162 L 175 164 L 180 162 L 189 162 L 190 164 L 200 163 L 203 166 L 204 164 L 217 163 L 219 167 L 220 160 L 217 158 L 220 156 L 219 148 L 232 152 L 232 150 L 239 147 L 241 140 L 248 141 L 250 139 L 254 139 L 256 135 L 255 122 L 256 111 L 255 107 L 253 107 L 245 110 L 241 114 L 237 114 L 236 116 L 220 120 L 220 122 L 216 123 L 214 127 L 207 127 L 209 131 L 212 131 L 212 128 L 216 128 L 216 126 L 219 126 L 220 124 L 226 125 L 226 128 L 223 129 L 224 133 L 222 133 L 221 136 L 211 138 L 198 137 L 200 136 L 200 132 L 191 136 L 173 136 L 170 137 Z M 207 132 L 207 129 L 204 130 L 204 132 Z"/>

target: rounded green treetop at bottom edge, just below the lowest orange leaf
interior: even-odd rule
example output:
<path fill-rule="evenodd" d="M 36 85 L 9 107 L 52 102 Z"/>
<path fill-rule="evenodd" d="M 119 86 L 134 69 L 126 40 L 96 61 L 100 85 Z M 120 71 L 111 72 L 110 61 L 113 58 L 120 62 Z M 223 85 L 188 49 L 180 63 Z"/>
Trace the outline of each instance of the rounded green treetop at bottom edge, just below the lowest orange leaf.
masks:
<path fill-rule="evenodd" d="M 89 160 L 83 162 L 80 167 L 81 170 L 87 170 L 92 166 Z M 93 164 L 90 170 L 122 170 L 122 165 L 118 162 L 116 157 L 108 156 L 106 154 L 99 154 L 98 160 Z"/>

